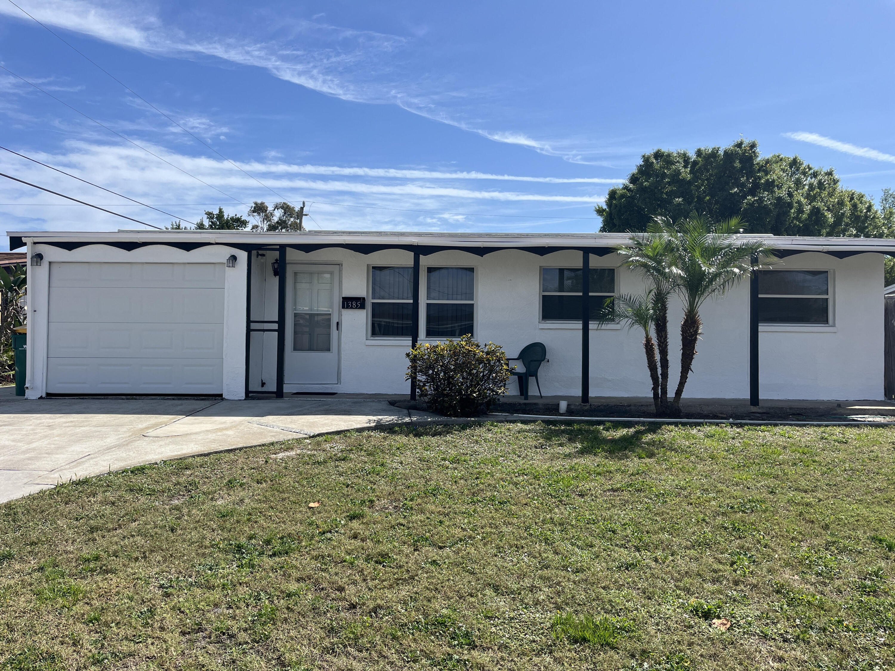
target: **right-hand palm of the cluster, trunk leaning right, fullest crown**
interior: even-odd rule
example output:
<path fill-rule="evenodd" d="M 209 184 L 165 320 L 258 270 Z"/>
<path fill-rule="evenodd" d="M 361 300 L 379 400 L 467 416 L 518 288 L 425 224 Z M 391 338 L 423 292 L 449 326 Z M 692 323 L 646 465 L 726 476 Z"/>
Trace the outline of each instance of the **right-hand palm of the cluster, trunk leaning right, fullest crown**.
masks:
<path fill-rule="evenodd" d="M 729 291 L 765 263 L 771 247 L 763 241 L 739 240 L 735 235 L 742 231 L 739 217 L 712 224 L 708 217 L 691 215 L 677 225 L 668 220 L 660 225 L 669 282 L 684 303 L 684 319 L 680 324 L 680 378 L 669 405 L 669 411 L 679 415 L 680 399 L 693 368 L 696 342 L 702 334 L 700 307 L 710 297 Z"/>

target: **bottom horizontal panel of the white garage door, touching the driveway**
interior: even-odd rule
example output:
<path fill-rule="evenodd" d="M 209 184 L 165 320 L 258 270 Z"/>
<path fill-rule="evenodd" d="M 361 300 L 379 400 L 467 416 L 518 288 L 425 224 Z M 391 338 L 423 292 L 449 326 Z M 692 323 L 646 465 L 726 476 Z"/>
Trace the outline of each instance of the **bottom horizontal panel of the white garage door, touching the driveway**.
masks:
<path fill-rule="evenodd" d="M 47 359 L 50 394 L 220 394 L 222 359 Z"/>

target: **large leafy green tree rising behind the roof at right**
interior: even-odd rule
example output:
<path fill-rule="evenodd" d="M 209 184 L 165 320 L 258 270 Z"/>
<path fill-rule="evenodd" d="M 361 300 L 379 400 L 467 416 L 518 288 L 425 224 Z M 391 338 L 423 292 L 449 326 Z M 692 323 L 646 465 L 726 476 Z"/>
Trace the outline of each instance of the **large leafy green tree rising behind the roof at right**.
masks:
<path fill-rule="evenodd" d="M 595 209 L 600 230 L 610 233 L 644 232 L 653 217 L 679 221 L 696 213 L 713 221 L 741 217 L 750 233 L 893 237 L 895 197 L 881 206 L 882 212 L 864 193 L 844 189 L 832 168 L 782 154 L 762 157 L 758 142 L 737 140 L 693 154 L 644 154 Z"/>

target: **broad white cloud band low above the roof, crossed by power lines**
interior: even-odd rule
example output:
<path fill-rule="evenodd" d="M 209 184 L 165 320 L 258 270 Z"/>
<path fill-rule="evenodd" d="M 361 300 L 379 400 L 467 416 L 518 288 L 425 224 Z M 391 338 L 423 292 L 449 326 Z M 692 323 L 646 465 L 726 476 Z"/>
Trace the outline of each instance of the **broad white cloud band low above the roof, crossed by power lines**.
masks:
<path fill-rule="evenodd" d="M 220 203 L 227 212 L 244 214 L 246 204 L 252 200 L 279 200 L 226 161 L 179 154 L 156 145 L 149 145 L 149 149 L 226 191 L 235 200 L 227 203 L 219 192 L 149 157 L 140 149 L 124 144 L 70 141 L 59 152 L 38 152 L 26 148 L 22 151 L 51 166 L 88 176 L 91 181 L 132 198 L 164 205 L 163 209 L 176 217 L 183 217 L 184 221 L 196 221 L 204 209 L 217 208 L 217 205 L 212 207 L 212 203 Z M 285 198 L 307 200 L 320 225 L 334 229 L 525 230 L 540 227 L 544 230 L 544 226 L 561 225 L 557 222 L 561 222 L 564 216 L 584 217 L 582 225 L 587 226 L 584 222 L 590 221 L 592 206 L 603 200 L 601 195 L 576 192 L 580 186 L 565 186 L 565 193 L 546 194 L 466 189 L 460 182 L 463 178 L 458 178 L 457 184 L 445 183 L 440 177 L 444 173 L 438 171 L 366 174 L 364 171 L 369 169 L 351 168 L 358 174 L 347 174 L 343 179 L 313 180 L 296 179 L 297 175 L 303 174 L 304 166 L 291 166 L 282 161 L 269 164 L 257 162 L 245 164 L 244 167 L 261 176 L 264 183 Z M 316 170 L 321 166 L 311 167 Z M 101 205 L 115 203 L 115 197 L 108 193 L 17 157 L 0 156 L 0 170 L 81 200 Z M 439 183 L 426 183 L 420 177 L 420 174 L 426 173 L 438 174 Z M 108 230 L 118 225 L 115 218 L 109 215 L 90 208 L 61 207 L 60 203 L 54 196 L 36 192 L 30 187 L 0 182 L 0 214 L 10 230 Z M 164 215 L 137 208 L 124 200 L 118 206 L 110 205 L 109 208 L 119 206 L 124 214 L 150 224 L 166 225 L 170 221 Z M 592 229 L 589 230 L 595 229 L 598 224 L 596 217 L 592 220 Z"/>

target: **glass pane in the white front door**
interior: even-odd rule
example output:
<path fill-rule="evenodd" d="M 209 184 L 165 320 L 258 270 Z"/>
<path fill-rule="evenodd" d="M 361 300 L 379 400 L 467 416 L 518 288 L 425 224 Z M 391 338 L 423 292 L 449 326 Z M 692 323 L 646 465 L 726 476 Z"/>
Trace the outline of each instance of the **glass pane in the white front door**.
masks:
<path fill-rule="evenodd" d="M 331 352 L 333 323 L 333 274 L 294 274 L 293 352 Z"/>

